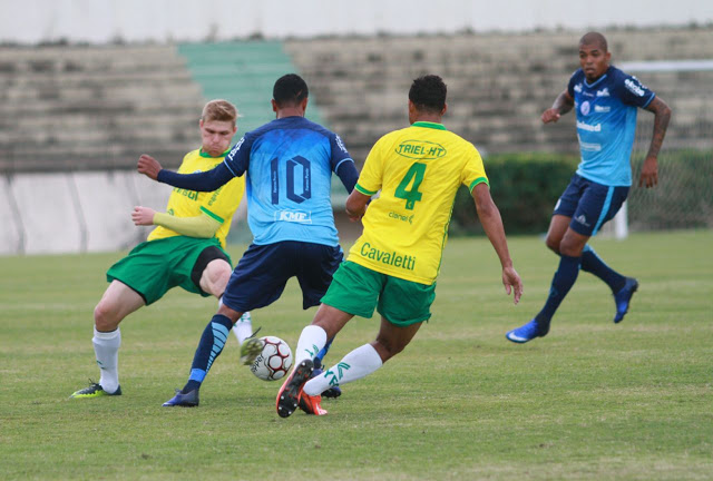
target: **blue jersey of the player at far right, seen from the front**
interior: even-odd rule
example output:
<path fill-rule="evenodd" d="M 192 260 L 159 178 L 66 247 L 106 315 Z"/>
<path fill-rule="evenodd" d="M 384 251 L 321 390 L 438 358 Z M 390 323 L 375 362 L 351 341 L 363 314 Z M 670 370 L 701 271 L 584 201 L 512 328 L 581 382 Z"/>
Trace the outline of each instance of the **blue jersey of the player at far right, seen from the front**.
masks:
<path fill-rule="evenodd" d="M 593 84 L 578 69 L 567 91 L 577 112 L 582 153 L 577 174 L 606 186 L 631 186 L 636 109 L 651 104 L 655 94 L 616 67 L 609 67 Z"/>

